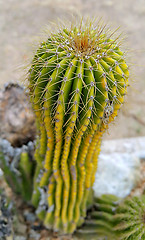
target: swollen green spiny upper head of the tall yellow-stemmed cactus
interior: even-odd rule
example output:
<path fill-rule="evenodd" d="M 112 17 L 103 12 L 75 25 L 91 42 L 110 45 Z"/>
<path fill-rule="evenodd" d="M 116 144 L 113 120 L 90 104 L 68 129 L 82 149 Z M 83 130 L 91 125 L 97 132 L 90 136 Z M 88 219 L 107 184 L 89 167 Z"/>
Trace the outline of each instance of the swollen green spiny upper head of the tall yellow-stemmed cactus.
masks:
<path fill-rule="evenodd" d="M 93 24 L 81 21 L 50 34 L 30 69 L 35 111 L 42 113 L 49 100 L 52 122 L 65 129 L 78 129 L 86 118 L 90 125 L 107 122 L 126 93 L 128 66 L 118 37 L 113 40 L 113 32 Z"/>

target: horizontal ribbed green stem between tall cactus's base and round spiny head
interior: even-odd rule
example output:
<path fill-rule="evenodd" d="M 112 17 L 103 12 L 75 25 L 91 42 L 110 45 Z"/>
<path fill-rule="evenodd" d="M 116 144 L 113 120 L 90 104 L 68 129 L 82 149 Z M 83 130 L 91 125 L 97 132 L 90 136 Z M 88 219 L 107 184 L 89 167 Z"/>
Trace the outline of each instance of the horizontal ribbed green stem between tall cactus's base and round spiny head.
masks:
<path fill-rule="evenodd" d="M 102 195 L 94 199 L 93 206 L 88 210 L 83 226 L 77 230 L 77 235 L 106 237 L 117 240 L 114 229 L 114 216 L 120 199 L 114 195 Z M 105 238 L 105 239 L 106 239 Z"/>

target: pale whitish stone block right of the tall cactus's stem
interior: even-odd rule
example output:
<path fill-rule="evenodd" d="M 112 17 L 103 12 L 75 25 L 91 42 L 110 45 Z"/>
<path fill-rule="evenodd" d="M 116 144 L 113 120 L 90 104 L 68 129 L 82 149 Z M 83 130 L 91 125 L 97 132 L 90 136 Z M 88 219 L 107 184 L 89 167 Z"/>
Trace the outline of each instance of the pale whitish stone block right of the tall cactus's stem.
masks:
<path fill-rule="evenodd" d="M 96 196 L 126 197 L 140 179 L 145 137 L 104 141 L 93 186 Z"/>

